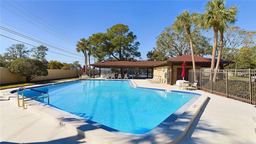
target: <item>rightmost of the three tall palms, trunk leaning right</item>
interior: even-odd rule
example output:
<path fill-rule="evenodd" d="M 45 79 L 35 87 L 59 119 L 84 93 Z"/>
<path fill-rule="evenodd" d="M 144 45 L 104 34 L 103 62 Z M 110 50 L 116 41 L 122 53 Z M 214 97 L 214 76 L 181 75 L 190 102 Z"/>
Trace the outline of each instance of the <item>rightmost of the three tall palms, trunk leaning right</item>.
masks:
<path fill-rule="evenodd" d="M 216 69 L 218 69 L 220 65 L 221 52 L 223 48 L 223 33 L 226 30 L 226 28 L 228 28 L 227 22 L 230 24 L 234 24 L 236 22 L 237 12 L 238 12 L 238 7 L 235 5 L 232 5 L 228 10 L 223 11 L 222 19 L 218 25 L 218 30 L 220 31 L 220 47 L 218 52 Z"/>

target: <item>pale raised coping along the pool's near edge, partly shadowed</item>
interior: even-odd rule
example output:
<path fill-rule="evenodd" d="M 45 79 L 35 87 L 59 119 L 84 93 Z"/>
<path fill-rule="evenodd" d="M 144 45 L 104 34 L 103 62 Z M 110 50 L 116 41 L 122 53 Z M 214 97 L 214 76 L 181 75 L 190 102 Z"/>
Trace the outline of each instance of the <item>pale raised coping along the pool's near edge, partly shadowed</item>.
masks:
<path fill-rule="evenodd" d="M 151 88 L 150 88 L 151 89 Z M 178 91 L 181 92 L 181 91 Z M 184 93 L 184 92 L 183 92 Z M 98 128 L 76 118 L 72 118 L 63 113 L 57 112 L 48 108 L 49 106 L 38 103 L 28 103 L 26 107 L 29 110 L 43 116 L 44 118 L 56 122 L 60 126 L 64 127 L 72 132 L 84 136 L 85 138 L 94 140 L 96 142 L 103 143 L 145 143 L 146 141 L 155 141 L 157 143 L 170 143 L 174 144 L 181 141 L 186 135 L 188 129 L 194 122 L 197 114 L 200 112 L 202 106 L 206 102 L 208 96 L 200 96 L 198 100 L 193 102 L 192 105 L 179 117 L 175 120 L 175 122 L 168 127 L 164 132 L 157 134 L 156 136 L 151 137 L 131 137 L 114 134 L 107 130 Z M 9 98 L 10 99 L 10 98 Z M 13 99 L 13 98 L 11 98 Z M 14 97 L 14 101 L 17 102 L 17 99 Z M 40 102 L 39 102 L 40 103 Z M 99 136 L 100 135 L 100 136 Z"/>

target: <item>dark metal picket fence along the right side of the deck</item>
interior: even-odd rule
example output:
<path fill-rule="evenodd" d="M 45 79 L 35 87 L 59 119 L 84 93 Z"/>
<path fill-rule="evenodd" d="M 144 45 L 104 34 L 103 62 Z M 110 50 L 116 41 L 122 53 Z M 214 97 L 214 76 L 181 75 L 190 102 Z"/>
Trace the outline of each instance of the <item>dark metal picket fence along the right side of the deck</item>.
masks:
<path fill-rule="evenodd" d="M 256 104 L 256 70 L 196 70 L 198 88 L 250 104 Z M 194 80 L 193 70 L 188 78 Z"/>

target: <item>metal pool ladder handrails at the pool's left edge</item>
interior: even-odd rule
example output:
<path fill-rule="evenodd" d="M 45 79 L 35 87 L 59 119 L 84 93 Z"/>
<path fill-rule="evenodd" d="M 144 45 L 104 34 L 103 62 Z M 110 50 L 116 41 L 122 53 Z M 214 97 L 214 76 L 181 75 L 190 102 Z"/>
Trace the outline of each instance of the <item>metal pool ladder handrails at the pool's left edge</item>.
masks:
<path fill-rule="evenodd" d="M 39 95 L 36 95 L 36 96 L 29 96 L 29 97 L 25 97 L 24 98 L 24 94 L 23 93 L 26 90 L 32 90 L 32 91 L 35 91 L 35 92 L 40 92 L 42 94 L 39 94 Z M 19 97 L 19 91 L 22 91 L 22 98 Z M 47 96 L 44 96 L 44 94 L 47 94 Z M 48 98 L 48 105 L 49 105 L 49 94 L 47 92 L 42 92 L 40 90 L 34 90 L 34 89 L 31 89 L 31 88 L 19 88 L 17 90 L 17 99 L 18 99 L 18 106 L 19 107 L 21 107 L 20 106 L 20 99 L 22 99 L 22 106 L 23 106 L 23 108 L 25 108 L 25 102 L 26 101 L 42 99 L 43 102 L 44 102 L 44 98 Z M 28 99 L 28 100 L 26 100 L 26 99 Z"/>

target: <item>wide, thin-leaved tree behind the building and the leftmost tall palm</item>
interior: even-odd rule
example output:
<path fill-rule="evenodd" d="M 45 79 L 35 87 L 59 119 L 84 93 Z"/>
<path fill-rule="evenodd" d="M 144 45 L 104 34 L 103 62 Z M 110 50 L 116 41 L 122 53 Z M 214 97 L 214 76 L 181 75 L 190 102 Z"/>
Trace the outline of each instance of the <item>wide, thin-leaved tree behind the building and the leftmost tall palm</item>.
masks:
<path fill-rule="evenodd" d="M 211 47 L 209 40 L 201 34 L 199 28 L 194 28 L 191 34 L 196 40 L 193 46 L 196 50 L 194 54 L 196 56 L 209 54 L 208 51 Z M 155 54 L 158 56 L 175 58 L 185 54 L 191 54 L 189 37 L 185 30 L 182 32 L 176 32 L 173 30 L 172 26 L 168 26 L 164 28 L 162 33 L 156 38 L 156 48 L 154 49 L 154 52 L 156 52 Z"/>

